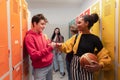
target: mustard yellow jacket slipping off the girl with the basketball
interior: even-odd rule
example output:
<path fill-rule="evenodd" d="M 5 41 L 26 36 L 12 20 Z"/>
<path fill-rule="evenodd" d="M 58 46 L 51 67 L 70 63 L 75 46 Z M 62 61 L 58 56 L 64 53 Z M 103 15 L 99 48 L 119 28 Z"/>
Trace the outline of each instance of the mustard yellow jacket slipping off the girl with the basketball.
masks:
<path fill-rule="evenodd" d="M 76 43 L 74 44 L 76 35 L 72 36 L 70 39 L 62 43 L 62 46 L 59 49 L 65 53 L 69 53 L 73 50 L 74 54 L 77 52 L 78 44 L 81 38 L 81 34 L 77 36 Z M 109 51 L 103 48 L 98 54 L 98 61 L 99 64 L 103 66 L 102 70 L 109 70 L 111 69 L 111 57 Z"/>

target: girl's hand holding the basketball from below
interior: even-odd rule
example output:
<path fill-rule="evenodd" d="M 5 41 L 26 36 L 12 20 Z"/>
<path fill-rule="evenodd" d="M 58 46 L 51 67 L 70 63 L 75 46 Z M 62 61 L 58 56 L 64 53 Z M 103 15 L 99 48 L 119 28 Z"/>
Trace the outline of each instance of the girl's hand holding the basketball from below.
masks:
<path fill-rule="evenodd" d="M 85 69 L 89 72 L 95 72 L 102 68 L 102 65 L 99 65 L 98 62 L 92 61 L 92 65 L 85 65 Z"/>

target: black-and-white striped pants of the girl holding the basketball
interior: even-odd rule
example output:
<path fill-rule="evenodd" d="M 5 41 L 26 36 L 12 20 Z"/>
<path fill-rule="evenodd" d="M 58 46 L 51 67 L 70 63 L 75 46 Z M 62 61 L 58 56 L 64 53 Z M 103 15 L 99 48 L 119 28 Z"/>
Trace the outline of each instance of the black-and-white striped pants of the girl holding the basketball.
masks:
<path fill-rule="evenodd" d="M 79 57 L 74 55 L 71 62 L 72 80 L 93 80 L 93 73 L 80 66 Z"/>

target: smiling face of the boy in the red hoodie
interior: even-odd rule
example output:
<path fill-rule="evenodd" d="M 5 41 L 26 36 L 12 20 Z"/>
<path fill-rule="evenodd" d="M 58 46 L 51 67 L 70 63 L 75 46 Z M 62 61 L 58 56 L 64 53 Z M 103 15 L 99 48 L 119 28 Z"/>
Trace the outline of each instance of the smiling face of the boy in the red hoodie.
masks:
<path fill-rule="evenodd" d="M 44 28 L 46 27 L 46 21 L 45 20 L 40 20 L 38 23 L 34 22 L 34 30 L 37 33 L 41 33 Z"/>

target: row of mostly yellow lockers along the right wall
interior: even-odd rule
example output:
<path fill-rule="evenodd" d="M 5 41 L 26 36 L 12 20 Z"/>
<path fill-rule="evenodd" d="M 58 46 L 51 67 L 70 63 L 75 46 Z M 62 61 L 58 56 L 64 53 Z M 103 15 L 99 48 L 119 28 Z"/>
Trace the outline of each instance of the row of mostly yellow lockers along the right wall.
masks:
<path fill-rule="evenodd" d="M 97 0 L 79 16 L 98 13 L 100 20 L 91 28 L 110 51 L 113 69 L 101 72 L 96 80 L 120 80 L 120 0 Z M 77 17 L 69 25 L 75 24 Z"/>

